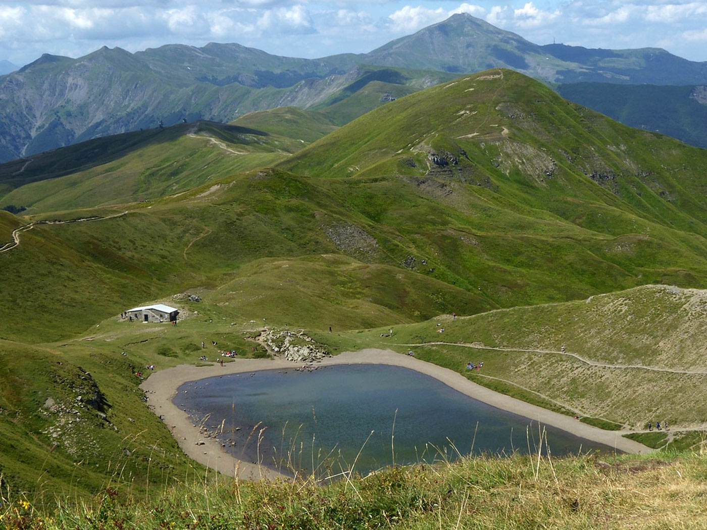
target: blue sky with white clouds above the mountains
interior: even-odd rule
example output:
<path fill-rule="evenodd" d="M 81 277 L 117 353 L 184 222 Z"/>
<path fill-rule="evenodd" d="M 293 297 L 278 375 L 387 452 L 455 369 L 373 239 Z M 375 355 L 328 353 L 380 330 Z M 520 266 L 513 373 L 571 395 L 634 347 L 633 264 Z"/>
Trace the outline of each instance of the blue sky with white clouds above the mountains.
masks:
<path fill-rule="evenodd" d="M 370 52 L 454 13 L 470 13 L 535 44 L 660 47 L 707 61 L 707 0 L 0 0 L 0 61 L 103 47 L 238 42 L 276 55 Z"/>

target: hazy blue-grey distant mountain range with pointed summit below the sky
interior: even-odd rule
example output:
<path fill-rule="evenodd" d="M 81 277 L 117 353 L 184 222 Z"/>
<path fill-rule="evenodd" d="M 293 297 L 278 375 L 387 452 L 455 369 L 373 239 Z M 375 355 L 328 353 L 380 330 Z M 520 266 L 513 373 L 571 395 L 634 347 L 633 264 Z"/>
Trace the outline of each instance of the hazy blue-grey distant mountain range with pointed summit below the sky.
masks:
<path fill-rule="evenodd" d="M 546 83 L 707 84 L 707 62 L 654 48 L 534 45 L 467 14 L 367 54 L 321 59 L 238 44 L 135 54 L 103 47 L 78 59 L 45 54 L 0 76 L 0 161 L 160 123 L 229 122 L 287 105 L 328 110 L 332 122 L 344 124 L 402 95 L 494 67 Z"/>

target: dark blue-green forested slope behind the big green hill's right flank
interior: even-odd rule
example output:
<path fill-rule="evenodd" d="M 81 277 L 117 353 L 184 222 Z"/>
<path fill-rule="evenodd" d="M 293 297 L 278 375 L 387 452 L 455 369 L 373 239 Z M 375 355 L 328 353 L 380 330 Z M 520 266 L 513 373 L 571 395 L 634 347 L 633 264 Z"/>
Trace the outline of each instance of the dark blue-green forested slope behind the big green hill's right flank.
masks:
<path fill-rule="evenodd" d="M 563 98 L 628 126 L 707 148 L 705 86 L 574 83 L 559 85 L 557 91 Z"/>

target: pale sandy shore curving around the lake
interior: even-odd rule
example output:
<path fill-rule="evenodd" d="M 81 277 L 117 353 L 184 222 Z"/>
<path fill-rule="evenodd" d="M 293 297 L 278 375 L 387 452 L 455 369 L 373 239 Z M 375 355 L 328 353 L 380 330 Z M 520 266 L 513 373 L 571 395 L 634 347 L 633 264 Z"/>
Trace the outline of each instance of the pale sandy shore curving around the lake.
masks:
<path fill-rule="evenodd" d="M 410 368 L 416 372 L 434 377 L 449 387 L 462 392 L 462 394 L 484 401 L 484 403 L 496 408 L 525 416 L 544 425 L 552 425 L 587 440 L 614 447 L 619 449 L 619 451 L 647 453 L 651 450 L 643 444 L 622 437 L 615 431 L 592 427 L 592 425 L 581 423 L 569 416 L 563 416 L 505 394 L 499 394 L 496 391 L 469 381 L 463 375 L 448 368 L 426 363 L 391 350 L 369 348 L 356 352 L 344 352 L 334 357 L 322 359 L 315 366 L 354 364 L 383 364 Z M 228 476 L 238 476 L 246 480 L 270 480 L 279 476 L 279 473 L 265 466 L 240 461 L 226 452 L 218 440 L 204 437 L 199 432 L 199 427 L 194 425 L 187 413 L 173 404 L 173 399 L 177 395 L 177 389 L 180 385 L 189 381 L 219 375 L 256 372 L 257 370 L 293 370 L 301 366 L 304 366 L 304 364 L 291 363 L 284 359 L 237 359 L 233 363 L 223 365 L 223 367 L 218 364 L 205 367 L 180 365 L 154 372 L 141 384 L 141 388 L 146 391 L 148 406 L 151 411 L 158 416 L 162 416 L 165 424 L 177 439 L 177 442 L 179 442 L 180 447 L 189 457 Z"/>

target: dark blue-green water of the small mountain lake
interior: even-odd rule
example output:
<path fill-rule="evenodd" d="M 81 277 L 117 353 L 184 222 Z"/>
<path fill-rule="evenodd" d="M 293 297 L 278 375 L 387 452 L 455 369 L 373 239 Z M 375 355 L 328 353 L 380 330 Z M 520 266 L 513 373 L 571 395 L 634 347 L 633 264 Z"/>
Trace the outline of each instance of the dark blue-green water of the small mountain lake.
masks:
<path fill-rule="evenodd" d="M 313 463 L 320 475 L 348 469 L 354 461 L 361 473 L 380 469 L 393 464 L 394 451 L 395 463 L 411 464 L 454 459 L 457 450 L 527 453 L 530 444 L 536 452 L 539 441 L 537 422 L 465 396 L 433 377 L 388 365 L 211 377 L 182 385 L 174 403 L 194 423 L 210 415 L 204 425 L 218 429 L 237 458 L 256 461 L 259 454 L 270 467 L 284 469 L 289 460 L 305 471 Z M 550 426 L 541 429 L 552 454 L 611 450 Z"/>

